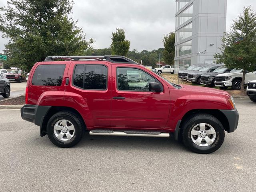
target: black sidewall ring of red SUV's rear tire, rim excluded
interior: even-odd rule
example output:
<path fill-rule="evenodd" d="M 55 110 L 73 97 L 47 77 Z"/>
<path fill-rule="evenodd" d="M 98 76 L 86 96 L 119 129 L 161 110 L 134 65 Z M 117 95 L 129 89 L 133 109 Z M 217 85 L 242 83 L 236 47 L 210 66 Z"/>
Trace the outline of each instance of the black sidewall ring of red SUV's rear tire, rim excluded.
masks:
<path fill-rule="evenodd" d="M 54 125 L 56 124 L 56 122 L 58 122 L 59 120 L 62 120 L 62 119 L 66 119 L 74 125 L 74 130 L 75 130 L 74 136 L 68 141 L 61 141 L 58 138 L 56 138 L 56 136 L 54 134 Z M 81 134 L 82 134 L 82 131 L 79 128 L 78 123 L 71 116 L 68 116 L 68 115 L 54 115 L 48 121 L 48 124 L 47 124 L 48 138 L 57 146 L 60 146 L 60 147 L 74 146 L 75 144 L 77 144 L 80 141 L 79 135 L 81 135 Z"/>

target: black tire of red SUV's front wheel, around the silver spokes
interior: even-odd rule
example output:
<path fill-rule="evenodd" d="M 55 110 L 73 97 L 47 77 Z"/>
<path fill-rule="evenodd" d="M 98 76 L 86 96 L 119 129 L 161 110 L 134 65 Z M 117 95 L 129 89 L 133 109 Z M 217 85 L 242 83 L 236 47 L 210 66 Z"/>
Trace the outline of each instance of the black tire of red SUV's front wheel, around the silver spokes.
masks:
<path fill-rule="evenodd" d="M 216 136 L 212 144 L 209 144 L 208 146 L 199 146 L 196 143 L 193 142 L 191 138 L 191 131 L 192 129 L 200 123 L 209 124 L 212 126 L 216 132 Z M 207 130 L 206 130 L 207 131 Z M 199 136 L 199 135 L 198 135 Z M 207 136 L 207 135 L 206 135 Z M 212 134 L 213 136 L 213 134 Z M 207 136 L 208 137 L 208 136 Z M 202 137 L 201 137 L 202 138 Z M 214 116 L 210 114 L 194 114 L 190 116 L 185 122 L 182 124 L 182 141 L 184 145 L 196 153 L 201 154 L 208 154 L 212 153 L 220 146 L 222 145 L 225 138 L 225 132 L 224 128 L 221 124 L 221 122 Z M 193 138 L 194 139 L 194 138 Z M 202 139 L 202 142 L 205 142 L 204 139 Z M 205 142 L 206 143 L 206 142 Z"/>

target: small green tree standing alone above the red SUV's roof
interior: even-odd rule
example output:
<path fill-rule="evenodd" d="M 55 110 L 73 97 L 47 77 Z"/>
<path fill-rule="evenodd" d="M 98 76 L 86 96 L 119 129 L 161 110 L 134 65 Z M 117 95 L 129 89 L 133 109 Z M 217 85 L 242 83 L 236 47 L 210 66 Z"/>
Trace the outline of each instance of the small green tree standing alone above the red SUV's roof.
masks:
<path fill-rule="evenodd" d="M 125 30 L 116 28 L 116 32 L 112 32 L 111 39 L 112 55 L 126 56 L 130 49 L 130 41 L 125 40 Z"/>

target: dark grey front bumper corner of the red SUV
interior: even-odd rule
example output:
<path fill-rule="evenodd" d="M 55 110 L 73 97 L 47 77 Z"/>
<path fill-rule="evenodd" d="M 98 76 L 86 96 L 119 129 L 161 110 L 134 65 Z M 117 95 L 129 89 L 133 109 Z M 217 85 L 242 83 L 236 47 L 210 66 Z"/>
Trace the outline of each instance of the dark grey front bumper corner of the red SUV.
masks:
<path fill-rule="evenodd" d="M 238 125 L 239 114 L 236 109 L 233 110 L 220 110 L 227 118 L 229 128 L 225 128 L 228 133 L 234 132 Z"/>

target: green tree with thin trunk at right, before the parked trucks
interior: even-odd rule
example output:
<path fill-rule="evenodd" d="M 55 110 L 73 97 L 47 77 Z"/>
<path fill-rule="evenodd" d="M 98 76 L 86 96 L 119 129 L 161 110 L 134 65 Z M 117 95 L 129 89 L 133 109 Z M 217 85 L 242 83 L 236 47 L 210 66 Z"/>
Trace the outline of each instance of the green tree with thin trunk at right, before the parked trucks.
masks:
<path fill-rule="evenodd" d="M 243 90 L 246 71 L 252 72 L 256 68 L 256 13 L 250 6 L 244 7 L 243 13 L 234 21 L 230 31 L 222 37 L 222 42 L 221 53 L 214 56 L 216 63 L 242 70 Z"/>

